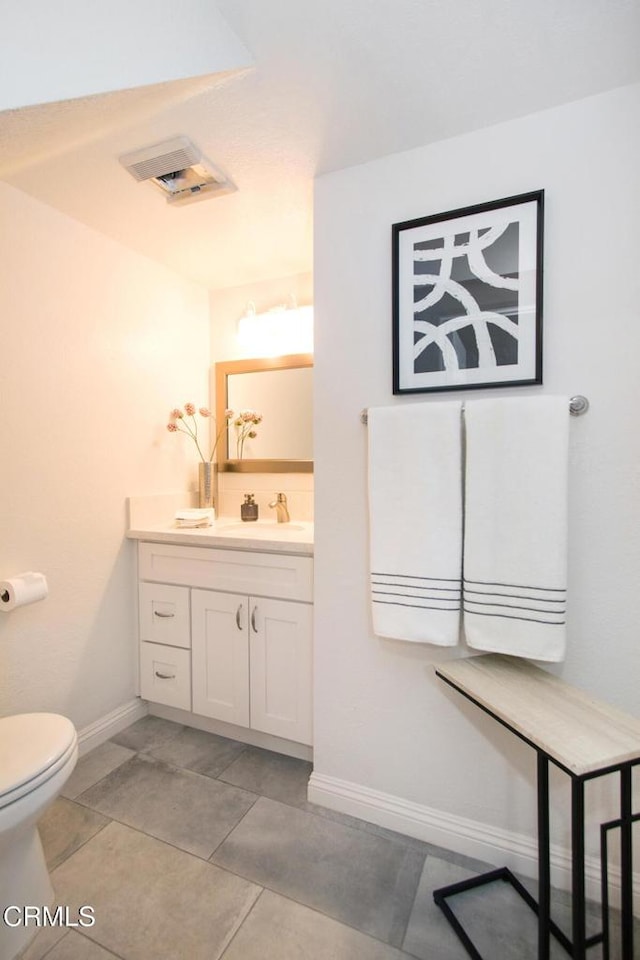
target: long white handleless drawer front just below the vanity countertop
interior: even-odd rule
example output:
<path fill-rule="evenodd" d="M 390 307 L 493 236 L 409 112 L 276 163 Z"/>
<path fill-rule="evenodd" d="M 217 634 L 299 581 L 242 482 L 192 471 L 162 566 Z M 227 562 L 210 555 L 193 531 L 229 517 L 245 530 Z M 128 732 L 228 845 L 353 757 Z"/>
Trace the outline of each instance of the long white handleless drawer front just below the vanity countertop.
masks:
<path fill-rule="evenodd" d="M 138 562 L 142 580 L 282 600 L 313 599 L 311 557 L 142 542 Z"/>

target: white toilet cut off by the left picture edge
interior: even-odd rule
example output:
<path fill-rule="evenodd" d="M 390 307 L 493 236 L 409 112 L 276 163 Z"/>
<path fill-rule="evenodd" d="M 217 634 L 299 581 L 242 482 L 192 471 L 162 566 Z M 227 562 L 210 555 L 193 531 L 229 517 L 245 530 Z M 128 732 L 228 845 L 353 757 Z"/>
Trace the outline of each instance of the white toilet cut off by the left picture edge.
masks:
<path fill-rule="evenodd" d="M 50 907 L 54 893 L 37 822 L 78 759 L 75 727 L 57 713 L 0 718 L 0 957 L 13 960 L 38 932 L 17 910 Z"/>

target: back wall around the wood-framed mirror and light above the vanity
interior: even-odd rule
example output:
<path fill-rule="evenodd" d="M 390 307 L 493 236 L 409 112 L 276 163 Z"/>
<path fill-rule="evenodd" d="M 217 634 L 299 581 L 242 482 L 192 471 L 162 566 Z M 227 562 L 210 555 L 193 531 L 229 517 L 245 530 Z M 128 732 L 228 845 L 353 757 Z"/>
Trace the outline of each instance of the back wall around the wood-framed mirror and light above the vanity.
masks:
<path fill-rule="evenodd" d="M 237 337 L 238 321 L 246 312 L 249 301 L 257 313 L 287 304 L 293 296 L 299 306 L 313 303 L 313 278 L 310 273 L 277 277 L 273 280 L 212 290 L 209 295 L 211 311 L 211 364 L 223 360 L 243 360 L 259 354 L 242 346 Z M 215 405 L 211 378 L 211 406 Z M 220 516 L 239 516 L 245 493 L 254 493 L 260 518 L 269 519 L 273 511 L 268 503 L 277 491 L 286 493 L 292 520 L 313 520 L 313 474 L 218 474 L 218 504 Z"/>

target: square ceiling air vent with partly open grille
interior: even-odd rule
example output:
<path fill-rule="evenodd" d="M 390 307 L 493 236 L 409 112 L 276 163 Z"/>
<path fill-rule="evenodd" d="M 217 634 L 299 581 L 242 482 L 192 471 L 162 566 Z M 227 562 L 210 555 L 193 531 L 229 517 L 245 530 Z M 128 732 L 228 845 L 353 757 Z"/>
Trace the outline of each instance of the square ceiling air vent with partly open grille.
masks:
<path fill-rule="evenodd" d="M 167 203 L 189 203 L 232 193 L 236 187 L 187 137 L 174 137 L 120 157 L 135 180 L 150 180 Z"/>

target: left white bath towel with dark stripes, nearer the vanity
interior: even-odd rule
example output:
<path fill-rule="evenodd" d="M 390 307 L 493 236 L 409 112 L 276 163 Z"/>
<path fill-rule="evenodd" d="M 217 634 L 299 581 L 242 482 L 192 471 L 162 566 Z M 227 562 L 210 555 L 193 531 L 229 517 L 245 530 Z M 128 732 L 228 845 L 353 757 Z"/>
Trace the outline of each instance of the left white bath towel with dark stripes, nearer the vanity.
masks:
<path fill-rule="evenodd" d="M 453 646 L 460 629 L 461 403 L 369 410 L 373 628 Z"/>

